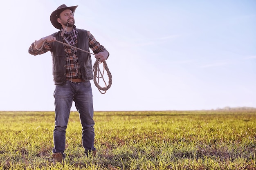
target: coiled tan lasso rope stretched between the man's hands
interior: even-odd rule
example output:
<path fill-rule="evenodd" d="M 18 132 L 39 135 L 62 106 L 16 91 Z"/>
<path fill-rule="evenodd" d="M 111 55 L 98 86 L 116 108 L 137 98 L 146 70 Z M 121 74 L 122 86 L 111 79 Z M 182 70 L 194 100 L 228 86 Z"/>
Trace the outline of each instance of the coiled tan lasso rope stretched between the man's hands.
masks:
<path fill-rule="evenodd" d="M 36 41 L 35 41 L 35 47 L 36 47 L 36 49 L 37 49 L 37 50 L 42 50 L 42 49 L 43 49 L 43 45 L 45 44 L 45 42 L 46 42 L 46 41 L 44 41 L 43 44 L 42 44 L 42 46 L 41 46 L 41 48 L 38 49 L 38 48 L 36 47 Z M 94 53 L 90 53 L 89 51 L 85 51 L 85 50 L 83 50 L 83 49 L 79 49 L 79 48 L 77 48 L 77 47 L 75 47 L 75 46 L 72 46 L 72 45 L 70 45 L 70 44 L 67 44 L 67 43 L 64 43 L 64 42 L 61 42 L 61 41 L 56 40 L 56 42 L 61 43 L 61 44 L 64 44 L 64 45 L 66 45 L 66 46 L 70 46 L 70 47 L 75 48 L 75 49 L 78 49 L 78 50 L 83 51 L 83 52 L 85 52 L 85 53 L 89 53 L 89 54 L 95 55 Z M 99 65 L 100 65 L 101 63 L 103 64 L 103 72 L 101 72 L 101 70 L 99 69 Z M 107 86 L 106 81 L 105 81 L 105 79 L 104 79 L 104 77 L 103 77 L 105 70 L 107 71 L 107 75 L 108 75 L 108 86 Z M 93 72 L 94 72 L 94 74 L 93 74 L 93 81 L 94 81 L 95 86 L 98 88 L 98 90 L 99 90 L 99 92 L 100 92 L 101 94 L 105 94 L 105 93 L 107 92 L 107 90 L 110 88 L 110 86 L 112 85 L 112 75 L 111 75 L 111 73 L 110 73 L 110 71 L 109 71 L 109 69 L 108 69 L 108 65 L 107 65 L 106 61 L 100 62 L 99 59 L 96 59 L 94 65 L 93 65 Z M 103 82 L 104 82 L 104 84 L 105 84 L 105 87 L 101 87 L 101 86 L 99 85 L 99 80 L 100 80 L 101 78 L 102 78 L 102 80 L 103 80 Z M 102 91 L 103 91 L 103 92 L 102 92 Z"/>

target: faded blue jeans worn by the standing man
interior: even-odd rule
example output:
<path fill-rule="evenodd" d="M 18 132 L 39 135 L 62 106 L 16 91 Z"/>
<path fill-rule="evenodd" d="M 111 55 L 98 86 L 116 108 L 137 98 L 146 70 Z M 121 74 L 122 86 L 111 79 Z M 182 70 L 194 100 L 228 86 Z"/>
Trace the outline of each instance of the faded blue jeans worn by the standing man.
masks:
<path fill-rule="evenodd" d="M 67 81 L 63 86 L 56 86 L 55 98 L 55 128 L 53 132 L 53 153 L 61 152 L 65 157 L 66 128 L 70 109 L 74 100 L 82 124 L 82 144 L 85 151 L 94 148 L 94 120 L 92 104 L 92 87 L 90 81 L 73 83 Z"/>

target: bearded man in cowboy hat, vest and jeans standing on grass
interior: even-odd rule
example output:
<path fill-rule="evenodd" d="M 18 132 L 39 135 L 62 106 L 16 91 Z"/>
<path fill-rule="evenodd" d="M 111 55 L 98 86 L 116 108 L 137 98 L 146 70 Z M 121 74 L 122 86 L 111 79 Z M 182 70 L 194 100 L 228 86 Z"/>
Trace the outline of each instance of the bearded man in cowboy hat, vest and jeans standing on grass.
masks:
<path fill-rule="evenodd" d="M 88 52 L 89 48 L 92 49 L 100 62 L 104 62 L 109 53 L 89 31 L 76 28 L 74 25 L 76 7 L 67 7 L 63 4 L 53 11 L 50 21 L 60 31 L 33 42 L 29 47 L 29 53 L 32 55 L 43 54 L 47 51 L 52 53 L 52 72 L 56 85 L 54 90 L 54 148 L 52 150 L 55 162 L 62 162 L 65 158 L 65 133 L 73 100 L 82 124 L 82 144 L 85 148 L 85 155 L 96 155 L 90 84 L 93 78 L 92 61 L 90 53 L 79 49 Z M 79 49 L 72 48 L 72 46 Z"/>

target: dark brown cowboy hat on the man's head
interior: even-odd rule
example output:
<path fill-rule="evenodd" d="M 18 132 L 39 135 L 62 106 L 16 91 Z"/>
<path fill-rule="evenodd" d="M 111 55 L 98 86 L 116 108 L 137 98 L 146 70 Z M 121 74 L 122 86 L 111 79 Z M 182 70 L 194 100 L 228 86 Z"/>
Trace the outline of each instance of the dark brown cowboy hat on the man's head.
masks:
<path fill-rule="evenodd" d="M 67 7 L 67 5 L 62 4 L 61 6 L 59 6 L 55 11 L 52 12 L 51 16 L 50 16 L 50 20 L 52 22 L 52 25 L 56 28 L 56 29 L 61 29 L 61 24 L 58 23 L 57 18 L 59 17 L 60 13 L 66 9 L 70 9 L 73 14 L 75 13 L 76 7 L 78 7 L 78 5 L 73 6 L 73 7 Z"/>

